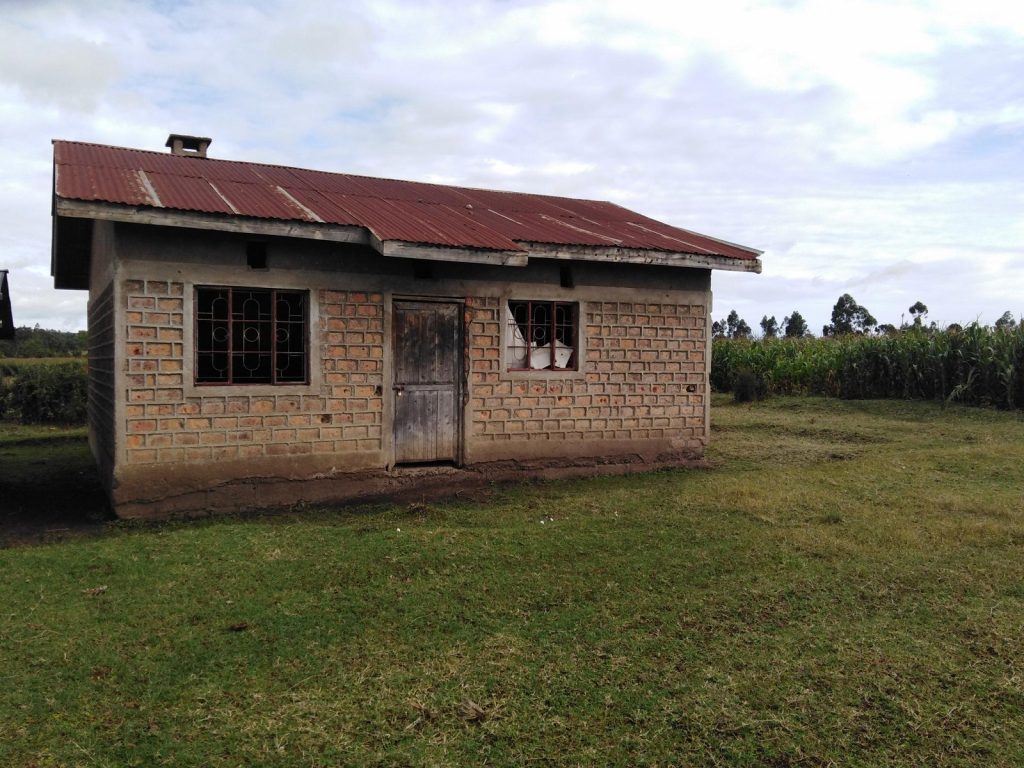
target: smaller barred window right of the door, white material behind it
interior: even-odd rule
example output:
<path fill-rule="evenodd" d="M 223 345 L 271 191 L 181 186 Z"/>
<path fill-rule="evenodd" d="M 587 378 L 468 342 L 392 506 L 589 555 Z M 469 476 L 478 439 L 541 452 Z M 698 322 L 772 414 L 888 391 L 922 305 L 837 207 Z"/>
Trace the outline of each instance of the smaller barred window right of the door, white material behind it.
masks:
<path fill-rule="evenodd" d="M 509 371 L 575 371 L 577 304 L 510 301 L 505 317 Z"/>

